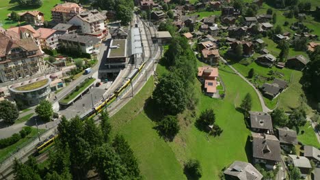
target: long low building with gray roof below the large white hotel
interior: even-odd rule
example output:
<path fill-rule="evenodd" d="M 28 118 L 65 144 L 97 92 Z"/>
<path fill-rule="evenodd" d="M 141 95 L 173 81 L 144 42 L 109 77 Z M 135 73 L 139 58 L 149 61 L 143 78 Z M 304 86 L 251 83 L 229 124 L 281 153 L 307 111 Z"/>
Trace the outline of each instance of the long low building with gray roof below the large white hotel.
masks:
<path fill-rule="evenodd" d="M 68 50 L 81 50 L 83 53 L 96 54 L 99 52 L 100 39 L 90 35 L 64 34 L 58 37 L 62 48 Z"/>

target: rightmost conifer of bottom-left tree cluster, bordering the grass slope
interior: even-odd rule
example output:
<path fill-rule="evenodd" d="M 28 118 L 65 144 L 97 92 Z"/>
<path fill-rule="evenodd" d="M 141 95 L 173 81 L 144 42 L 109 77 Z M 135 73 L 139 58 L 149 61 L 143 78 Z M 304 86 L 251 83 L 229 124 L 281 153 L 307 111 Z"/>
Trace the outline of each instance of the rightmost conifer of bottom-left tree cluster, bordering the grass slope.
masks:
<path fill-rule="evenodd" d="M 139 179 L 140 170 L 137 159 L 135 158 L 129 143 L 122 135 L 116 135 L 112 142 L 112 147 L 114 147 L 114 151 L 119 155 L 121 164 L 126 168 L 127 175 L 130 179 Z"/>

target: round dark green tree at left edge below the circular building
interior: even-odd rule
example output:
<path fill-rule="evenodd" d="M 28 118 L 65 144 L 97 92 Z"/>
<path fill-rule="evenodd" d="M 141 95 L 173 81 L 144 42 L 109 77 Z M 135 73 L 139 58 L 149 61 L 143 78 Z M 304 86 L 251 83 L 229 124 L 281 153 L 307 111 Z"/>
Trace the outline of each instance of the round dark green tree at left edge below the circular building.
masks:
<path fill-rule="evenodd" d="M 14 123 L 14 120 L 18 117 L 19 111 L 15 104 L 12 104 L 8 100 L 0 102 L 0 119 L 3 119 L 5 123 Z"/>

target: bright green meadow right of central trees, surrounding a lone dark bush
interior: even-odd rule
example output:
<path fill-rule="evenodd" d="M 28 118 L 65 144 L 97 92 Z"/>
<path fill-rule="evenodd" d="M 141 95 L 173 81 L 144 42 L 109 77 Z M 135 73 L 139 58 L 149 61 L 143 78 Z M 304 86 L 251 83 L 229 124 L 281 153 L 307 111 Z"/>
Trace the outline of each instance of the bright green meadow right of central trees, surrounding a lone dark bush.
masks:
<path fill-rule="evenodd" d="M 228 67 L 223 69 L 230 71 Z M 245 153 L 245 143 L 250 131 L 245 127 L 243 115 L 235 108 L 241 104 L 241 100 L 249 92 L 253 97 L 252 110 L 261 110 L 254 89 L 239 76 L 221 70 L 219 74 L 226 84 L 224 100 L 213 99 L 200 93 L 200 82 L 196 83 L 196 90 L 200 93 L 198 114 L 206 108 L 213 108 L 217 124 L 224 130 L 222 136 L 215 138 L 210 136 L 210 140 L 207 140 L 204 132 L 200 132 L 194 125 L 189 125 L 182 128 L 174 142 L 170 142 L 179 162 L 185 162 L 187 158 L 200 160 L 203 179 L 218 179 L 220 170 L 234 160 L 248 161 L 250 157 Z"/>

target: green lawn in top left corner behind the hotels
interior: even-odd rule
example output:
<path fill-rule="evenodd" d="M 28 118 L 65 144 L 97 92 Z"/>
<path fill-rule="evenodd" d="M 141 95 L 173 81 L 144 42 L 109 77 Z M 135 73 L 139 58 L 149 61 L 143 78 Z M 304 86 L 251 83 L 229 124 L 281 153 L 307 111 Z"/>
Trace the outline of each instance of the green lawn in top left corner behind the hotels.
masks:
<path fill-rule="evenodd" d="M 27 10 L 39 10 L 44 13 L 45 20 L 51 20 L 51 9 L 57 4 L 62 3 L 61 0 L 43 0 L 43 5 L 39 8 L 34 7 L 21 7 L 17 3 L 10 3 L 12 0 L 1 0 L 0 5 L 0 23 L 3 24 L 4 28 L 10 28 L 12 26 L 18 25 L 18 23 L 8 20 L 7 14 L 10 14 L 12 11 L 24 12 Z"/>

